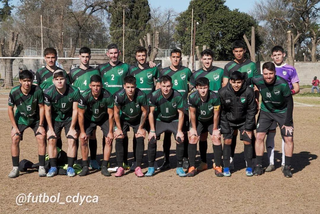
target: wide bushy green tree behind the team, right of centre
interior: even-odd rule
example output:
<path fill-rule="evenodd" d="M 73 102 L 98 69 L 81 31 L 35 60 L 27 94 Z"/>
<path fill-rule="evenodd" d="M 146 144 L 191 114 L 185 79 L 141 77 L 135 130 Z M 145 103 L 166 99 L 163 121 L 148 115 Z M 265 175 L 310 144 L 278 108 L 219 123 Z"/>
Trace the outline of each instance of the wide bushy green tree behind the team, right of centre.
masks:
<path fill-rule="evenodd" d="M 180 43 L 182 52 L 190 54 L 191 47 L 191 13 L 193 20 L 199 22 L 196 26 L 196 46 L 207 45 L 216 52 L 216 60 L 231 60 L 233 54 L 231 44 L 242 40 L 245 34 L 250 40 L 251 26 L 257 27 L 257 22 L 247 13 L 238 10 L 231 11 L 224 0 L 192 0 L 188 9 L 177 18 L 175 39 Z M 256 33 L 256 49 L 261 44 Z M 247 57 L 250 57 L 248 55 Z"/>

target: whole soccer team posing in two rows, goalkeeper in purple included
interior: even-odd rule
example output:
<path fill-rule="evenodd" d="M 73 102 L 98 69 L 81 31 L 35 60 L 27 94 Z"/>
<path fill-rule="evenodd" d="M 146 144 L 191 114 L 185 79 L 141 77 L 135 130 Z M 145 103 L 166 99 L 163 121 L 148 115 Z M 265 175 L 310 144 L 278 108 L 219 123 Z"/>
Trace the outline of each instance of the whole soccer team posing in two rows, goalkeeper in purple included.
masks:
<path fill-rule="evenodd" d="M 90 48 L 82 47 L 80 66 L 66 72 L 56 66 L 57 51 L 45 48 L 46 66 L 34 76 L 29 70 L 20 71 L 20 85 L 9 94 L 13 166 L 9 178 L 19 177 L 23 164 L 20 141 L 23 142 L 23 132 L 28 128 L 33 130 L 37 142 L 38 163 L 27 168 L 38 170 L 40 177 L 91 176 L 91 170 L 100 170 L 103 176 L 127 176 L 125 170 L 131 170 L 137 177 L 161 177 L 156 171 L 175 165 L 169 161 L 174 143 L 177 176 L 201 176 L 198 173 L 208 169 L 207 147 L 212 143 L 212 173 L 230 177 L 235 167 L 237 136 L 244 146 L 243 176 L 252 177 L 275 170 L 277 127 L 282 137 L 281 173 L 291 178 L 292 95 L 300 91 L 296 69 L 284 63 L 281 46 L 270 50 L 273 62 L 265 62 L 261 74 L 254 62 L 245 59 L 246 46 L 242 41 L 234 41 L 231 49 L 234 60 L 224 68 L 212 65 L 212 50 L 202 51 L 203 67 L 192 72 L 181 65 L 182 53 L 178 48 L 170 52 L 171 65 L 159 71 L 154 62 L 147 61 L 144 47 L 136 48 L 137 63 L 131 66 L 119 61 L 121 51 L 117 44 L 109 44 L 109 61 L 95 68 L 89 64 Z M 62 130 L 66 142 L 62 142 Z M 100 130 L 102 139 L 96 137 Z M 127 134 L 130 130 L 132 138 Z M 163 145 L 158 145 L 161 135 Z M 102 163 L 96 158 L 97 144 L 101 142 Z M 30 143 L 35 144 L 36 153 L 35 141 Z M 130 164 L 129 144 L 133 147 Z M 197 144 L 201 157 L 198 166 Z M 116 163 L 109 162 L 113 146 Z M 156 162 L 157 147 L 163 147 L 161 166 Z M 265 147 L 266 168 L 262 166 Z M 148 159 L 145 172 L 141 169 L 144 155 Z"/>

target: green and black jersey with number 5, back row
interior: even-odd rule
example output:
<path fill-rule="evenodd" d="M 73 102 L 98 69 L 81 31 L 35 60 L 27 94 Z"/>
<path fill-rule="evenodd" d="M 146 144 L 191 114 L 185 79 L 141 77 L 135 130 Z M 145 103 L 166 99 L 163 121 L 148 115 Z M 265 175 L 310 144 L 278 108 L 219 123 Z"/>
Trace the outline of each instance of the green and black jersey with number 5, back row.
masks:
<path fill-rule="evenodd" d="M 133 75 L 137 79 L 137 88 L 146 93 L 149 101 L 150 95 L 156 89 L 154 79 L 159 77 L 158 67 L 151 68 L 147 66 L 141 69 L 138 66 L 131 66 L 129 75 Z"/>

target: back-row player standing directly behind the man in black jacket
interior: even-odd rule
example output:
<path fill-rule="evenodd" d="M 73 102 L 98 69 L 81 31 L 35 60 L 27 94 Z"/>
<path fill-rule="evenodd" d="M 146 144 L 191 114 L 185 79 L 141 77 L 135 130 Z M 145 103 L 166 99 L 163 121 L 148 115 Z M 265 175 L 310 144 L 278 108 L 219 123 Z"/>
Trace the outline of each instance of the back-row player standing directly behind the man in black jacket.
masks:
<path fill-rule="evenodd" d="M 232 72 L 240 71 L 241 73 L 246 72 L 248 78 L 258 75 L 256 63 L 252 62 L 249 59 L 244 58 L 245 45 L 242 41 L 236 40 L 232 44 L 232 52 L 235 56 L 235 59 L 229 62 L 223 70 L 223 80 L 222 87 L 224 87 L 231 76 Z M 253 87 L 253 85 L 251 85 Z M 256 102 L 259 103 L 259 92 L 255 89 Z M 230 157 L 230 170 L 234 168 L 234 155 L 237 143 L 238 131 L 235 131 L 232 136 L 231 143 L 231 157 Z M 253 155 L 254 156 L 254 155 Z"/>

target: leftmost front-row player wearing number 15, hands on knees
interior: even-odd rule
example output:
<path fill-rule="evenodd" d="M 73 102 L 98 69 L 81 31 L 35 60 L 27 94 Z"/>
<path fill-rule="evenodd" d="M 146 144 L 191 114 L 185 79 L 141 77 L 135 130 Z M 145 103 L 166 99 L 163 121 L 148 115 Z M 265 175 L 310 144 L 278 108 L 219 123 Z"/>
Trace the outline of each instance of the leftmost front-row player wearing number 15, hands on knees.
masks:
<path fill-rule="evenodd" d="M 32 73 L 23 70 L 19 73 L 19 82 L 21 85 L 14 87 L 9 94 L 8 114 L 12 124 L 11 130 L 11 156 L 13 169 L 9 173 L 9 178 L 19 176 L 19 155 L 20 140 L 22 140 L 23 132 L 30 127 L 35 133 L 38 142 L 38 158 L 39 158 L 39 176 L 46 176 L 44 170 L 45 161 L 45 130 L 44 124 L 44 105 L 43 92 L 40 87 L 32 85 Z M 17 107 L 14 114 L 13 108 Z"/>

